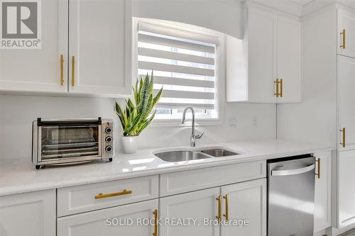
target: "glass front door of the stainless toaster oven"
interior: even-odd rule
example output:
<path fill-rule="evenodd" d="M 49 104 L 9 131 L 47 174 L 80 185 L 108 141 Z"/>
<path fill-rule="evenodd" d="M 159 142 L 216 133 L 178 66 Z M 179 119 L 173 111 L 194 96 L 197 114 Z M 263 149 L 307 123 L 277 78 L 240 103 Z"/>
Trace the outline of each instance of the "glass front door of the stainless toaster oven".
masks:
<path fill-rule="evenodd" d="M 38 159 L 40 162 L 65 159 L 95 159 L 102 156 L 101 125 L 67 121 L 41 123 L 38 126 Z"/>

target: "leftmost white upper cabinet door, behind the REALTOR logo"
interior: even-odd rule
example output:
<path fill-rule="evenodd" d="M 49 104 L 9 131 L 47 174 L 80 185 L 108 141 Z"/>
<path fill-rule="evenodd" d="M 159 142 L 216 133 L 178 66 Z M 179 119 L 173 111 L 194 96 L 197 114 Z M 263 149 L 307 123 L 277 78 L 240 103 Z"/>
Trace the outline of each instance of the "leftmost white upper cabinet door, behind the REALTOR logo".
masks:
<path fill-rule="evenodd" d="M 0 49 L 0 91 L 67 92 L 67 1 L 45 0 L 40 4 L 42 46 Z"/>

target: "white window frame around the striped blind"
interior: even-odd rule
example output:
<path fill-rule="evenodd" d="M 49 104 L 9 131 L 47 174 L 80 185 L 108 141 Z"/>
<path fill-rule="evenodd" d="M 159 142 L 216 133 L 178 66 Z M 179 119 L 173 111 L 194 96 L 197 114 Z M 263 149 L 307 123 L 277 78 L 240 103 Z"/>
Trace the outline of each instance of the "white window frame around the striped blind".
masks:
<path fill-rule="evenodd" d="M 226 78 L 226 35 L 224 33 L 219 33 L 215 30 L 209 30 L 207 28 L 201 28 L 200 26 L 192 26 L 185 23 L 175 23 L 173 21 L 160 21 L 156 19 L 148 18 L 136 18 L 133 17 L 133 30 L 132 30 L 132 81 L 133 84 L 136 83 L 138 78 L 138 23 L 153 23 L 159 26 L 166 26 L 168 28 L 175 28 L 176 30 L 185 30 L 192 33 L 199 33 L 201 35 L 206 35 L 207 37 L 216 38 L 218 44 L 216 45 L 215 53 L 215 97 L 218 118 L 196 118 L 195 125 L 222 125 L 222 120 L 224 119 L 224 106 L 226 103 L 226 98 L 224 96 L 225 88 L 225 78 Z M 188 111 L 190 113 L 190 111 Z M 191 120 L 190 118 L 187 120 Z M 154 119 L 151 123 L 151 127 L 155 126 L 181 126 L 180 118 L 169 118 L 169 119 Z M 190 126 L 189 122 L 184 124 L 185 126 Z"/>

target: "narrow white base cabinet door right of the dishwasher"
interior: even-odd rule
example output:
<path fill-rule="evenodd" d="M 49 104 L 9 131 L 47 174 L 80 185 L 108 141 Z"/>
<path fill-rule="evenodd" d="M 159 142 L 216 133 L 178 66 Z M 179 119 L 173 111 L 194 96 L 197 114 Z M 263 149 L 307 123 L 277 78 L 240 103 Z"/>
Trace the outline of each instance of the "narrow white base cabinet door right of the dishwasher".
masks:
<path fill-rule="evenodd" d="M 331 226 L 331 167 L 332 152 L 322 152 L 315 154 L 317 160 L 315 176 L 315 232 L 324 230 Z M 319 171 L 318 171 L 319 169 Z"/>

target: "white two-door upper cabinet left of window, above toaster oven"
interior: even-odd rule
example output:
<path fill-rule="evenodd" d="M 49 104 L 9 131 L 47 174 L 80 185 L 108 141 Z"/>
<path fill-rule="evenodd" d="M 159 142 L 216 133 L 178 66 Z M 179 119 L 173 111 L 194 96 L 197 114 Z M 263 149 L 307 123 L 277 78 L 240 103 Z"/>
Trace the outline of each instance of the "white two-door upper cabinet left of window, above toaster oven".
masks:
<path fill-rule="evenodd" d="M 42 47 L 0 49 L 0 91 L 129 96 L 131 1 L 40 4 Z"/>

